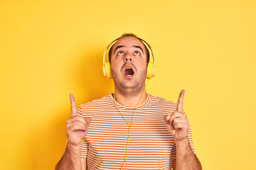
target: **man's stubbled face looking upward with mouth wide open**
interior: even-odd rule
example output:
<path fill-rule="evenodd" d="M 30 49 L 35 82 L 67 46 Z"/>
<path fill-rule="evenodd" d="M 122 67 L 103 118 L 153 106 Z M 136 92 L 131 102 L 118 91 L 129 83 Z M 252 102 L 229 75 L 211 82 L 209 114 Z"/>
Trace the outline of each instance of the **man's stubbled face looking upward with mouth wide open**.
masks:
<path fill-rule="evenodd" d="M 111 74 L 119 89 L 141 89 L 146 79 L 146 49 L 132 36 L 120 38 L 114 43 L 111 54 Z"/>

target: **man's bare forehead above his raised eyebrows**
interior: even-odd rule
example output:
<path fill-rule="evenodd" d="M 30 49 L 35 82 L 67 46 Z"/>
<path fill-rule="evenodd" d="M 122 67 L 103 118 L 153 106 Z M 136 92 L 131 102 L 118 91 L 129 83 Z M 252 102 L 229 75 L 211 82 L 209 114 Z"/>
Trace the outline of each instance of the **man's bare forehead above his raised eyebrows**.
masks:
<path fill-rule="evenodd" d="M 145 50 L 144 44 L 138 38 L 134 38 L 132 36 L 120 38 L 119 40 L 117 40 L 117 42 L 114 43 L 112 48 L 115 49 L 119 45 L 123 45 L 124 47 L 132 47 L 134 45 L 137 45 Z"/>

